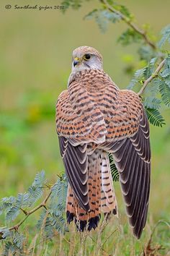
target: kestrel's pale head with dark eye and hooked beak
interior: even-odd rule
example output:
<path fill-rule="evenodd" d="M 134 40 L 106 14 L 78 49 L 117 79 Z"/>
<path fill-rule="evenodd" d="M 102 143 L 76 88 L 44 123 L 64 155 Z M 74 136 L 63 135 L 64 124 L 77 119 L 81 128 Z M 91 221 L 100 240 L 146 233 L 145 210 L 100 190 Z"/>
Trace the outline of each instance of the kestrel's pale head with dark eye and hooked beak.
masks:
<path fill-rule="evenodd" d="M 72 72 L 84 69 L 102 69 L 102 55 L 89 46 L 80 46 L 73 51 Z"/>

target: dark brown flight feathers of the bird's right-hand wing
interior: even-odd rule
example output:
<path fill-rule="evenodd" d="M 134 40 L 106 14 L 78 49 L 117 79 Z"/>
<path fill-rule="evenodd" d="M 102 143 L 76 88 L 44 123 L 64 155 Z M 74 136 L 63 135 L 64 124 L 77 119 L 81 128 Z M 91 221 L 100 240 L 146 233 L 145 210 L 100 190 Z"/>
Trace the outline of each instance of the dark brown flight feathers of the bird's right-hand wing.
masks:
<path fill-rule="evenodd" d="M 105 143 L 105 148 L 114 155 L 130 225 L 135 236 L 140 238 L 146 224 L 151 175 L 149 127 L 145 112 L 134 135 Z"/>

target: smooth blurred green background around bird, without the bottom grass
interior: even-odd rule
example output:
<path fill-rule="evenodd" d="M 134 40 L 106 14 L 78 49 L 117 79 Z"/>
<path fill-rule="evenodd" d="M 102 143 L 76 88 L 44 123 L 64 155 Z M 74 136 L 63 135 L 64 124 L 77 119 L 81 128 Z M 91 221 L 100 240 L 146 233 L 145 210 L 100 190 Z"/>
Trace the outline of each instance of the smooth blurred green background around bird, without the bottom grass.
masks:
<path fill-rule="evenodd" d="M 122 0 L 138 24 L 149 23 L 158 35 L 169 23 L 170 1 Z M 57 0 L 1 0 L 0 3 L 0 197 L 17 195 L 45 169 L 50 182 L 63 171 L 55 132 L 55 102 L 66 89 L 71 53 L 78 46 L 93 46 L 104 57 L 104 70 L 120 88 L 132 75 L 127 61 L 140 68 L 137 46 L 120 46 L 122 22 L 102 34 L 94 20 L 83 17 L 98 1 L 86 1 L 79 11 L 5 9 L 6 4 L 58 5 Z M 154 38 L 153 38 L 154 39 Z M 153 222 L 169 218 L 170 112 L 162 110 L 163 128 L 151 126 L 152 177 L 150 213 Z M 117 196 L 120 209 L 119 185 Z M 120 200 L 120 201 L 119 201 Z M 124 212 L 125 214 L 125 212 Z"/>

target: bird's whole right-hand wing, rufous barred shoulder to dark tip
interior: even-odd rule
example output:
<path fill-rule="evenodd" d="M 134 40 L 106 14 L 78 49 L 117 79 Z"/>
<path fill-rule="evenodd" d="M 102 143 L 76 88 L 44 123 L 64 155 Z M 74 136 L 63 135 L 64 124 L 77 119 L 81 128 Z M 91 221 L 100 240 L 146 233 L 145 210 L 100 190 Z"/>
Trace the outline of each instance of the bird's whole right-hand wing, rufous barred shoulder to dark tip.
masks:
<path fill-rule="evenodd" d="M 128 91 L 120 94 L 119 114 L 115 114 L 117 126 L 115 130 L 111 127 L 105 150 L 114 155 L 130 224 L 135 236 L 140 238 L 146 224 L 150 192 L 149 126 L 138 95 Z"/>

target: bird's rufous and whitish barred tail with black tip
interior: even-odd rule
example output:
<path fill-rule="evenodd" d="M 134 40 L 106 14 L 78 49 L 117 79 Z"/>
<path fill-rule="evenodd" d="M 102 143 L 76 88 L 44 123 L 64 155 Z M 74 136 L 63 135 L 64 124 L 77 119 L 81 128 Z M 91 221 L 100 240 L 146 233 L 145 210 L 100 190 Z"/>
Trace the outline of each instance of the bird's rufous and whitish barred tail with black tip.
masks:
<path fill-rule="evenodd" d="M 88 157 L 89 212 L 82 209 L 73 189 L 68 186 L 66 202 L 67 221 L 75 221 L 79 231 L 96 229 L 101 213 L 117 215 L 117 201 L 112 184 L 107 153 L 95 150 Z"/>

